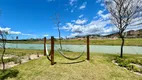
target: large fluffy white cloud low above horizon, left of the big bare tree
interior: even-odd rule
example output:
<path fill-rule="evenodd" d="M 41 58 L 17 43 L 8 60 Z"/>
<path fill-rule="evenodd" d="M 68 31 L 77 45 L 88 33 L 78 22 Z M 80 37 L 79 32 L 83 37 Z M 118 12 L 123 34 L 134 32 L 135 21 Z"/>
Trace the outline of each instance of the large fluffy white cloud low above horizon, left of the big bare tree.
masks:
<path fill-rule="evenodd" d="M 75 23 L 67 23 L 62 29 L 71 31 L 71 35 L 73 36 L 80 36 L 80 35 L 88 35 L 88 34 L 109 34 L 112 31 L 116 32 L 117 28 L 113 29 L 113 26 L 106 28 L 108 24 L 110 24 L 110 20 L 92 20 L 90 23 L 86 25 L 80 25 Z"/>

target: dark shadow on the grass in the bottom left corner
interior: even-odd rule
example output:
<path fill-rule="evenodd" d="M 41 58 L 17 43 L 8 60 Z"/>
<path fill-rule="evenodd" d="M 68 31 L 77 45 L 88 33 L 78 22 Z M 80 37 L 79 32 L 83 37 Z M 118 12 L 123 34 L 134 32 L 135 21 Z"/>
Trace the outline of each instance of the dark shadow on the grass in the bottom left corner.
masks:
<path fill-rule="evenodd" d="M 6 78 L 10 77 L 17 77 L 17 74 L 19 73 L 16 69 L 7 69 L 4 72 L 0 70 L 0 80 L 5 80 Z"/>

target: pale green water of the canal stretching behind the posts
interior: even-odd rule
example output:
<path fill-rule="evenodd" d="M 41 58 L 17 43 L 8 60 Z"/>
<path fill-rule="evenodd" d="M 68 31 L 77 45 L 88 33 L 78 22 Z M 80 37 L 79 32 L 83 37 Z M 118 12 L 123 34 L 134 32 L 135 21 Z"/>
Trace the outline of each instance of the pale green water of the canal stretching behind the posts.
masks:
<path fill-rule="evenodd" d="M 15 44 L 7 43 L 7 48 L 16 48 Z M 50 44 L 47 44 L 47 48 L 50 49 Z M 62 45 L 64 50 L 70 50 L 74 52 L 86 52 L 86 45 Z M 17 44 L 19 49 L 39 49 L 43 50 L 43 44 Z M 59 45 L 55 45 L 55 50 L 60 48 Z M 99 53 L 120 53 L 120 46 L 106 46 L 106 45 L 90 45 L 90 52 Z M 137 46 L 124 46 L 124 53 L 129 54 L 142 54 L 142 47 Z"/>

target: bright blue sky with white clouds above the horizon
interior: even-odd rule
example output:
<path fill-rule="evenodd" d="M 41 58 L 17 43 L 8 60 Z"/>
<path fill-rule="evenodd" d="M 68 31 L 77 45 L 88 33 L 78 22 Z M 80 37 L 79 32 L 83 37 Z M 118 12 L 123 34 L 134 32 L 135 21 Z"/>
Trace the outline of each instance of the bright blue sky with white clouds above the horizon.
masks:
<path fill-rule="evenodd" d="M 0 30 L 11 39 L 58 38 L 56 14 L 63 38 L 118 31 L 103 0 L 0 0 Z"/>

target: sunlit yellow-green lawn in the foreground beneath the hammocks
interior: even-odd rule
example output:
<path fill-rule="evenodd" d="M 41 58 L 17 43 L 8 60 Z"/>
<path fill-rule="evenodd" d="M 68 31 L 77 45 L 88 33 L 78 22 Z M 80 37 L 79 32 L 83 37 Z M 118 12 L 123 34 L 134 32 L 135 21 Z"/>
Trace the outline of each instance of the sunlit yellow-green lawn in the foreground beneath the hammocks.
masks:
<path fill-rule="evenodd" d="M 75 56 L 76 54 L 72 53 L 70 56 Z M 114 57 L 116 55 L 91 54 L 91 61 L 62 64 L 73 61 L 66 60 L 56 54 L 55 61 L 57 64 L 54 66 L 50 65 L 46 57 L 32 60 L 14 67 L 19 70 L 19 74 L 16 78 L 9 78 L 8 80 L 142 80 L 142 76 L 137 76 L 114 65 L 111 62 Z M 85 58 L 86 54 L 79 60 L 84 60 Z"/>

